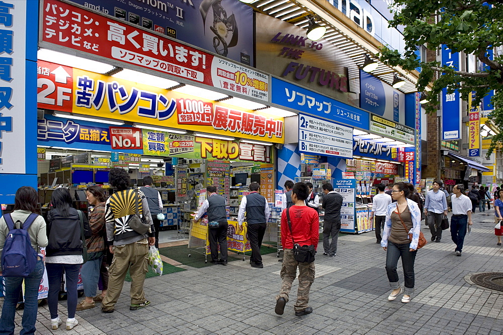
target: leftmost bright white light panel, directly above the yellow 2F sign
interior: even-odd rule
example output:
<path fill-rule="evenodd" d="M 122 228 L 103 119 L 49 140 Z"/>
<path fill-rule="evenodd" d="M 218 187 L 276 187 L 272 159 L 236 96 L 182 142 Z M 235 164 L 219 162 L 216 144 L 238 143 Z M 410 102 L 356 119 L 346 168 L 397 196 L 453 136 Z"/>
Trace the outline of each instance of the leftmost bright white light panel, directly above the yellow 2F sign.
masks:
<path fill-rule="evenodd" d="M 52 51 L 49 49 L 40 49 L 37 53 L 37 57 L 38 59 L 45 60 L 47 62 L 57 63 L 101 74 L 107 73 L 115 69 L 115 66 L 110 64 L 105 64 L 102 62 L 97 62 L 95 60 L 90 60 L 82 57 L 72 56 L 61 52 Z"/>

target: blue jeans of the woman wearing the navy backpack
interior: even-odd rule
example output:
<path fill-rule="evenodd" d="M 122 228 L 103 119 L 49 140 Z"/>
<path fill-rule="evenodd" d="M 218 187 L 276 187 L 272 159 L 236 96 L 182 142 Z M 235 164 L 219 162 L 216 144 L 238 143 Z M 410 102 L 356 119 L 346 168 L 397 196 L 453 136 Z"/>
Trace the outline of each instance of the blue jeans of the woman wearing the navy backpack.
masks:
<path fill-rule="evenodd" d="M 4 277 L 5 298 L 2 307 L 2 318 L 0 319 L 0 334 L 14 334 L 14 316 L 16 315 L 16 304 L 19 300 L 21 284 L 25 281 L 25 309 L 23 310 L 23 329 L 20 334 L 35 333 L 35 321 L 38 312 L 38 289 L 42 276 L 44 275 L 44 262 L 37 261 L 35 270 L 28 277 Z"/>

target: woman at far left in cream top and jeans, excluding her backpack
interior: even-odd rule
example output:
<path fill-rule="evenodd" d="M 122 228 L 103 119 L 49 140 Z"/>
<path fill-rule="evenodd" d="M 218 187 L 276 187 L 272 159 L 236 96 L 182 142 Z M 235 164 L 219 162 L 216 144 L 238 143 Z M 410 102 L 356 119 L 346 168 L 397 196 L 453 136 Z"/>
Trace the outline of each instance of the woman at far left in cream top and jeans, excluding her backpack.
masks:
<path fill-rule="evenodd" d="M 14 211 L 0 217 L 0 258 L 2 258 L 4 244 L 9 232 L 21 228 L 27 231 L 31 247 L 37 254 L 35 268 L 27 277 L 4 277 L 5 297 L 2 306 L 2 317 L 0 318 L 0 333 L 2 334 L 14 334 L 16 305 L 19 301 L 23 281 L 25 285 L 25 308 L 21 319 L 23 328 L 20 334 L 34 334 L 36 330 L 38 289 L 44 275 L 44 262 L 40 254 L 40 248 L 47 246 L 46 223 L 42 216 L 38 215 L 37 207 L 37 191 L 30 186 L 22 186 L 16 191 Z M 6 219 L 9 220 L 9 225 Z M 5 274 L 0 271 L 0 276 L 2 275 Z"/>

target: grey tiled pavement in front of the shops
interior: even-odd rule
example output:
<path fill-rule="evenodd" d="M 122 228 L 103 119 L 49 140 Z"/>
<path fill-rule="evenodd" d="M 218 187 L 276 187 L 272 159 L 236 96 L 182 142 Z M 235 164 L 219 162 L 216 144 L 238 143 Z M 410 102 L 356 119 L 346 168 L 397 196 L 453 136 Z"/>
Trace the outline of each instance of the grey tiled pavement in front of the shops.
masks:
<path fill-rule="evenodd" d="M 103 314 L 99 308 L 77 312 L 79 325 L 54 333 L 501 334 L 503 292 L 464 280 L 477 272 L 503 272 L 503 249 L 496 246 L 492 215 L 477 211 L 473 219 L 462 257 L 454 255 L 448 231 L 441 243 L 430 242 L 418 252 L 415 294 L 408 304 L 387 301 L 385 252 L 371 232 L 341 236 L 335 258 L 317 256 L 310 315 L 296 317 L 292 301 L 284 315 L 274 313 L 281 263 L 272 254 L 264 257 L 264 269 L 236 261 L 147 279 L 145 291 L 152 304 L 137 311 L 129 311 L 125 283 L 114 313 Z M 429 239 L 429 230 L 422 229 Z M 294 282 L 293 296 L 296 289 Z M 60 308 L 64 320 L 65 306 Z M 20 323 L 20 316 L 16 321 Z M 47 307 L 40 307 L 37 331 L 51 333 L 49 323 Z"/>

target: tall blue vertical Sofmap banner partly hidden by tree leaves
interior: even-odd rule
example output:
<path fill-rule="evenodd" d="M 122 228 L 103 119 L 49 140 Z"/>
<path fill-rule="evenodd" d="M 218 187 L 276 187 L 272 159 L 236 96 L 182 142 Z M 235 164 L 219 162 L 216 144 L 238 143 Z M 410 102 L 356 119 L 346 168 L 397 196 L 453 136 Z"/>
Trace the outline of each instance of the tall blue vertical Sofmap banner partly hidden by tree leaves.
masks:
<path fill-rule="evenodd" d="M 452 53 L 442 45 L 442 65 L 459 69 L 459 53 Z M 447 93 L 447 88 L 442 89 L 442 140 L 461 139 L 461 108 L 458 90 Z"/>

